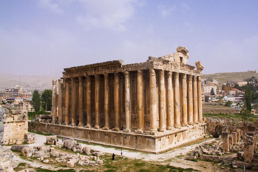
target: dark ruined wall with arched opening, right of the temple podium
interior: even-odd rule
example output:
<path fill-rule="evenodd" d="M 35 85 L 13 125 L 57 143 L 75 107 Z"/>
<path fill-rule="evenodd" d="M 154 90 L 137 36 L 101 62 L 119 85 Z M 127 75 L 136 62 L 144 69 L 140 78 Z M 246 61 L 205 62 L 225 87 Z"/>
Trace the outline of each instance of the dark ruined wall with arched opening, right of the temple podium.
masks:
<path fill-rule="evenodd" d="M 226 120 L 220 118 L 204 117 L 204 122 L 207 123 L 207 133 L 218 137 L 222 129 L 227 129 L 228 132 L 236 132 L 236 129 L 241 129 L 242 132 L 258 130 L 258 124 L 255 122 L 242 122 L 241 120 Z"/>

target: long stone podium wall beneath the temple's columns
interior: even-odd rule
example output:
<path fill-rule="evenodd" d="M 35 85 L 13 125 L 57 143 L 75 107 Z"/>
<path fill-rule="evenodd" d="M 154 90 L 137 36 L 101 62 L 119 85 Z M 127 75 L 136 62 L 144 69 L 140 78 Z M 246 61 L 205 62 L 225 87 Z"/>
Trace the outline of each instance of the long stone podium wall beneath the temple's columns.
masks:
<path fill-rule="evenodd" d="M 64 126 L 29 121 L 29 130 L 73 137 L 93 143 L 129 148 L 150 153 L 160 153 L 173 147 L 191 142 L 205 135 L 206 124 L 168 131 L 161 135 L 135 134 L 112 130 L 98 130 L 77 126 Z"/>

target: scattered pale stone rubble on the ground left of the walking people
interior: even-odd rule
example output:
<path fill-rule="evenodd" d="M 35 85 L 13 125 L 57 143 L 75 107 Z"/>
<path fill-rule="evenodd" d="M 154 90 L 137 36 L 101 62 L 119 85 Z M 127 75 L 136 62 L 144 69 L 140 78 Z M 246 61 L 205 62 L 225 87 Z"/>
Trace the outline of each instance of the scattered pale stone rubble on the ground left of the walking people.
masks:
<path fill-rule="evenodd" d="M 54 138 L 56 138 L 56 136 L 47 136 L 46 140 L 47 142 L 52 142 Z M 62 153 L 56 150 L 55 147 L 69 149 L 78 153 L 72 155 L 68 153 Z M 34 146 L 33 148 L 24 145 L 14 145 L 12 148 L 13 150 L 20 150 L 23 156 L 32 158 L 36 157 L 37 160 L 46 164 L 65 163 L 69 168 L 74 167 L 75 164 L 78 166 L 103 164 L 103 160 L 99 159 L 99 156 L 103 155 L 101 151 L 91 149 L 90 146 L 81 147 L 81 144 L 77 143 L 73 138 L 65 140 L 63 144 L 56 142 L 56 145 L 40 145 Z M 85 153 L 90 156 L 80 155 L 79 153 Z M 50 157 L 55 159 L 50 159 Z"/>

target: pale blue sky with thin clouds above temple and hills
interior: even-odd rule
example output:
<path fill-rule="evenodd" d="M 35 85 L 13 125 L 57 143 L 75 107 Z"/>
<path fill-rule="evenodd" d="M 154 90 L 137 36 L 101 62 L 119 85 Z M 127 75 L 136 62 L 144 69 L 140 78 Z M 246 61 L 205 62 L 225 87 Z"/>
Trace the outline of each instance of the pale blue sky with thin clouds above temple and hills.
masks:
<path fill-rule="evenodd" d="M 258 68 L 258 1 L 0 0 L 0 73 L 54 75 L 189 50 L 203 74 Z M 257 69 L 258 70 L 258 69 Z"/>

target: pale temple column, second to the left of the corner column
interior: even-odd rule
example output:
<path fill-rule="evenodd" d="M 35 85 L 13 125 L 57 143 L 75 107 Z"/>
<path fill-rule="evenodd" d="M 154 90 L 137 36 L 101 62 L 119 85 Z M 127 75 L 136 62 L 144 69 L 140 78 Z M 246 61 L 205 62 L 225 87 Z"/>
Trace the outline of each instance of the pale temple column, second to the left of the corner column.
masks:
<path fill-rule="evenodd" d="M 131 109 L 131 95 L 130 95 L 130 78 L 129 72 L 124 72 L 125 81 L 125 116 L 126 116 L 126 128 L 125 132 L 132 131 L 132 109 Z"/>

